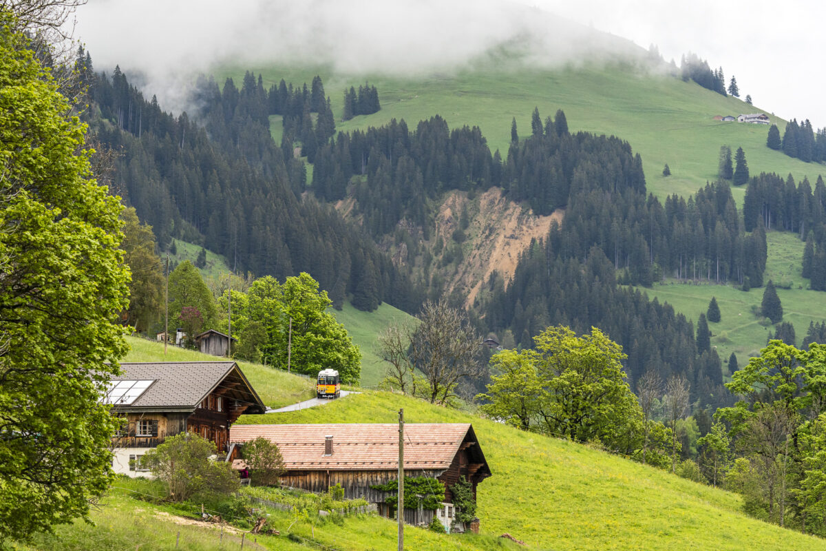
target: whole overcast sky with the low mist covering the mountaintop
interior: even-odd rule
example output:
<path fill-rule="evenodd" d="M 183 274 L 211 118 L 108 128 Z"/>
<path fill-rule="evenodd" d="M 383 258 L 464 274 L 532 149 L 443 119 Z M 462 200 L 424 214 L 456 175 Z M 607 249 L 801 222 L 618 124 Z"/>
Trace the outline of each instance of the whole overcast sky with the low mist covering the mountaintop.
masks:
<path fill-rule="evenodd" d="M 782 118 L 826 126 L 822 61 L 826 2 L 815 0 L 511 0 L 539 7 L 648 48 L 668 61 L 693 51 L 722 66 L 741 97 Z M 174 101 L 170 75 L 207 69 L 221 57 L 321 60 L 339 70 L 444 69 L 491 43 L 535 30 L 538 17 L 494 0 L 89 0 L 78 9 L 75 36 L 96 69 L 139 68 L 159 97 Z M 547 37 L 564 42 L 577 25 L 553 20 Z M 548 24 L 547 21 L 545 23 Z M 575 57 L 562 41 L 544 42 L 549 59 Z M 308 47 L 309 46 L 309 47 Z M 552 53 L 553 52 L 553 53 Z M 170 106 L 171 107 L 171 106 Z"/>

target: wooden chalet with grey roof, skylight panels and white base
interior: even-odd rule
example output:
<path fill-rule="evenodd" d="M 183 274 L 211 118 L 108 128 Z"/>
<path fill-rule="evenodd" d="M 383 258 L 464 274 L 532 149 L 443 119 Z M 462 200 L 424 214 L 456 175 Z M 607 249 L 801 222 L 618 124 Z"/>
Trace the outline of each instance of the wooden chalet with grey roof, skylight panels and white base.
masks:
<path fill-rule="evenodd" d="M 126 418 L 113 439 L 116 473 L 143 474 L 140 457 L 168 436 L 201 435 L 225 458 L 230 425 L 267 407 L 235 362 L 121 363 L 103 401 Z"/>

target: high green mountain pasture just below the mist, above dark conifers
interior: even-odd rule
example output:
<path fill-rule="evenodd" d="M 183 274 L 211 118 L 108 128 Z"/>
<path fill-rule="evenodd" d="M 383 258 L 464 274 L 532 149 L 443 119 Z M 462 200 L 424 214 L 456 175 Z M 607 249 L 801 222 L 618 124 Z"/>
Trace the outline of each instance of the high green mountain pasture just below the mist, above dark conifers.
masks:
<path fill-rule="evenodd" d="M 735 97 L 723 97 L 680 78 L 634 74 L 625 68 L 581 67 L 577 69 L 477 68 L 457 74 L 422 77 L 390 77 L 382 74 L 341 75 L 325 67 L 217 67 L 218 82 L 227 76 L 239 83 L 244 70 L 263 74 L 265 87 L 281 78 L 293 84 L 310 83 L 319 74 L 330 96 L 339 131 L 380 126 L 392 118 L 405 119 L 408 126 L 435 114 L 450 126 L 479 126 L 491 150 L 506 155 L 510 122 L 516 118 L 520 135 L 530 131 L 530 116 L 539 107 L 543 118 L 563 109 L 572 131 L 618 135 L 628 140 L 643 157 L 648 189 L 659 197 L 671 193 L 689 195 L 716 178 L 720 145 L 739 146 L 746 153 L 752 174 L 762 171 L 795 179 L 808 175 L 814 183 L 826 167 L 791 159 L 766 146 L 768 128 L 762 125 L 714 121 L 715 115 L 767 112 L 771 106 L 750 106 Z M 374 84 L 382 110 L 368 116 L 340 121 L 344 88 Z M 744 95 L 743 95 L 744 97 Z M 759 97 L 757 98 L 759 100 Z M 801 113 L 805 116 L 805 113 Z M 786 126 L 771 116 L 781 129 Z M 278 125 L 273 125 L 278 126 Z M 279 130 L 280 131 L 280 130 Z M 280 135 L 278 136 L 280 139 Z M 668 164 L 672 176 L 662 177 Z M 734 190 L 738 201 L 743 189 Z"/>

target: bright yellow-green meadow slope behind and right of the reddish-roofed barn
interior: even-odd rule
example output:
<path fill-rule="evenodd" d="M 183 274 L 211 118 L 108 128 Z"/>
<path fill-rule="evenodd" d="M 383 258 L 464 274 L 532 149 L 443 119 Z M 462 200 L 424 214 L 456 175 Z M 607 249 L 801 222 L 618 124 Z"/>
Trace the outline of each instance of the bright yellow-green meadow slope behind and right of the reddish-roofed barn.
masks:
<path fill-rule="evenodd" d="M 323 408 L 244 416 L 239 423 L 395 423 L 400 407 L 406 423 L 472 423 L 492 473 L 477 488 L 482 534 L 507 532 L 530 549 L 557 551 L 824 546 L 822 539 L 749 518 L 736 494 L 399 394 L 367 391 Z"/>

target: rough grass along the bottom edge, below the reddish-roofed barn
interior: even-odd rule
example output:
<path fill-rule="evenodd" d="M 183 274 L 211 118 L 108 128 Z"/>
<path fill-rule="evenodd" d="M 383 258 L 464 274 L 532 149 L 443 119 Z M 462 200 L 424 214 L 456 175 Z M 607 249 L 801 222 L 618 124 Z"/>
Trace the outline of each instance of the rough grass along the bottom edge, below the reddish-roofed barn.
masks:
<path fill-rule="evenodd" d="M 93 524 L 76 520 L 56 527 L 55 534 L 36 534 L 31 544 L 17 544 L 14 549 L 26 551 L 141 551 L 184 549 L 187 551 L 227 551 L 240 549 L 241 534 L 225 527 L 223 535 L 218 525 L 191 523 L 199 520 L 197 500 L 183 505 L 141 501 L 140 493 L 153 485 L 144 480 L 119 478 L 90 515 Z M 278 536 L 244 534 L 244 549 L 339 549 L 365 551 L 396 549 L 397 525 L 393 520 L 376 515 L 351 515 L 323 519 L 309 515 L 297 520 L 292 512 L 256 506 L 257 515 L 268 515 L 268 526 L 281 532 Z M 207 506 L 206 510 L 209 511 Z M 225 520 L 233 521 L 226 517 Z M 295 521 L 295 522 L 294 522 Z M 187 524 L 189 523 L 189 524 Z M 245 523 L 249 524 L 249 523 Z M 247 530 L 244 530 L 247 531 Z M 287 533 L 301 539 L 292 541 Z M 176 547 L 176 541 L 178 546 Z M 493 551 L 494 549 L 524 549 L 510 541 L 490 535 L 439 535 L 414 526 L 405 527 L 406 549 L 433 551 Z"/>

